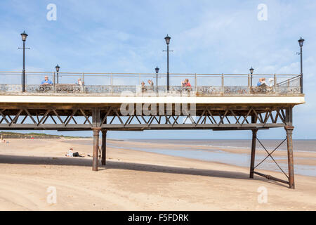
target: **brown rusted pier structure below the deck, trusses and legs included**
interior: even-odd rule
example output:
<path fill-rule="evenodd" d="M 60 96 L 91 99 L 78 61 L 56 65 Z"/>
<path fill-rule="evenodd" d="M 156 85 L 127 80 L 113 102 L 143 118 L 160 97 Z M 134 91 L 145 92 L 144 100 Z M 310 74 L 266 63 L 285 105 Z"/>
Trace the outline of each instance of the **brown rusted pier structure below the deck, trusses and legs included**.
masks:
<path fill-rule="evenodd" d="M 3 97 L 6 98 L 6 96 Z M 148 100 L 141 98 L 142 102 L 136 98 L 131 101 L 132 98 L 119 97 L 121 100 L 123 99 L 121 102 L 85 103 L 83 99 L 81 103 L 77 100 L 72 102 L 65 100 L 65 103 L 60 103 L 59 99 L 39 102 L 36 98 L 33 98 L 34 101 L 25 101 L 23 97 L 25 96 L 15 96 L 15 101 L 11 101 L 10 98 L 0 101 L 0 130 L 91 130 L 93 131 L 94 171 L 98 170 L 99 161 L 105 165 L 107 131 L 251 130 L 253 141 L 250 178 L 254 178 L 254 174 L 257 174 L 267 179 L 289 184 L 290 188 L 294 188 L 292 109 L 294 105 L 303 103 L 301 96 L 286 100 L 270 98 L 269 101 L 263 97 L 261 97 L 261 101 L 251 99 L 251 97 L 246 100 L 235 97 L 230 100 L 222 99 L 222 103 L 218 103 L 221 97 L 217 97 L 216 101 L 208 101 L 208 103 L 205 103 L 206 99 L 203 97 L 198 98 L 197 101 L 186 101 L 186 103 L 183 98 L 178 98 L 177 102 L 154 101 L 154 98 L 150 97 Z M 26 97 L 32 98 L 32 96 Z M 182 100 L 179 101 L 179 99 Z M 284 141 L 287 141 L 288 146 L 289 172 L 286 174 L 282 170 L 287 176 L 286 181 L 255 170 L 258 166 L 254 165 L 257 132 L 260 129 L 274 127 L 284 127 L 287 133 Z M 101 148 L 99 148 L 100 131 L 102 132 Z M 261 142 L 259 141 L 259 143 Z M 272 153 L 266 149 L 265 151 L 268 154 L 267 158 L 272 158 Z M 272 158 L 272 160 L 274 159 Z"/>

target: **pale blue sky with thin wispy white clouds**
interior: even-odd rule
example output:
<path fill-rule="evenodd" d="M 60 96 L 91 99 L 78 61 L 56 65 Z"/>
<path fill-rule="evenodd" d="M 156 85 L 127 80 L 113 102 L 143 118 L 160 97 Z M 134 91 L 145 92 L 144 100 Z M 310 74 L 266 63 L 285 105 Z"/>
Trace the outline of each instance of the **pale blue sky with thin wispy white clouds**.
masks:
<path fill-rule="evenodd" d="M 56 6 L 55 20 L 50 4 Z M 262 20 L 261 4 L 266 6 Z M 303 46 L 306 103 L 294 107 L 294 139 L 316 139 L 316 1 L 1 0 L 0 70 L 166 72 L 164 37 L 171 37 L 170 72 L 299 74 Z M 259 19 L 258 19 L 259 14 Z M 4 80 L 0 79 L 0 82 Z M 6 82 L 16 82 L 6 79 Z M 125 82 L 130 82 L 126 79 Z M 51 131 L 50 133 L 52 133 Z M 60 132 L 91 136 L 92 131 Z M 282 139 L 284 129 L 259 131 Z M 250 139 L 250 131 L 110 131 L 115 139 Z"/>

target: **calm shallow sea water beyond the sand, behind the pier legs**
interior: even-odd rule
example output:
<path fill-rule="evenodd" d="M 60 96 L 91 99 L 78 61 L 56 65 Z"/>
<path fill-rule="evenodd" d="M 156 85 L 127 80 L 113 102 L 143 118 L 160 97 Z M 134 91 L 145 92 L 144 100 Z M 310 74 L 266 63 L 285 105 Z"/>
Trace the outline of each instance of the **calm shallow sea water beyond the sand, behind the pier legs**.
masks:
<path fill-rule="evenodd" d="M 204 160 L 211 162 L 220 162 L 230 165 L 237 165 L 241 167 L 249 167 L 250 165 L 250 148 L 251 140 L 197 140 L 197 139 L 186 139 L 186 140 L 175 140 L 175 139 L 129 139 L 126 141 L 136 141 L 142 143 L 148 143 L 147 146 L 129 146 L 124 140 L 107 142 L 107 146 L 111 148 L 125 148 L 131 150 L 140 150 L 150 153 L 159 153 L 164 155 L 172 155 L 183 158 L 190 158 L 196 160 Z M 261 143 L 269 151 L 274 150 L 283 140 L 262 140 Z M 66 141 L 68 143 L 81 143 L 84 145 L 93 145 L 91 140 L 82 141 Z M 125 142 L 125 143 L 124 143 Z M 156 148 L 150 145 L 150 143 L 170 143 L 177 146 L 165 146 L 164 148 Z M 183 148 L 182 146 L 186 146 Z M 256 143 L 257 148 L 262 148 L 260 143 Z M 204 148 L 199 148 L 203 146 Z M 316 140 L 294 140 L 293 141 L 294 151 L 302 152 L 316 152 Z M 208 148 L 205 148 L 208 147 Z M 216 147 L 216 148 L 215 148 Z M 249 149 L 249 153 L 229 153 L 225 150 L 218 148 L 244 148 Z M 278 150 L 287 150 L 287 141 L 284 141 Z M 256 164 L 261 162 L 265 156 L 256 155 Z M 274 157 L 275 160 L 283 160 L 284 162 L 278 162 L 279 165 L 287 173 L 287 157 L 279 156 Z M 295 159 L 306 159 L 306 158 L 295 158 Z M 294 159 L 294 161 L 295 161 Z M 315 158 L 313 158 L 315 159 Z M 265 160 L 258 169 L 268 169 L 272 171 L 279 171 L 277 165 L 275 165 L 270 158 Z M 312 165 L 295 165 L 295 174 L 301 174 L 305 176 L 316 176 L 316 166 Z"/>

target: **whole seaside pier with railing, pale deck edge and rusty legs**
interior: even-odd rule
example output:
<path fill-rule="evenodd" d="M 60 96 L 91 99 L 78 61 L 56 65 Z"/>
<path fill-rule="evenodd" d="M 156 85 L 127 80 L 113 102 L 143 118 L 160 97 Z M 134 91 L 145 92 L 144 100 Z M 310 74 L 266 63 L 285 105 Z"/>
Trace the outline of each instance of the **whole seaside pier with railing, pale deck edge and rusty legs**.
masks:
<path fill-rule="evenodd" d="M 92 131 L 93 171 L 106 164 L 108 131 L 251 130 L 249 177 L 256 174 L 295 188 L 292 112 L 305 103 L 301 75 L 170 73 L 167 86 L 167 74 L 25 72 L 25 89 L 21 75 L 0 72 L 0 129 Z M 53 84 L 39 84 L 44 76 Z M 4 77 L 16 77 L 16 82 L 8 84 Z M 256 86 L 261 77 L 269 82 Z M 81 84 L 75 84 L 79 78 Z M 154 85 L 141 86 L 147 79 Z M 191 85 L 182 86 L 183 79 Z M 279 147 L 269 152 L 257 134 L 276 127 L 284 128 L 282 143 L 287 142 L 288 172 L 279 167 L 286 179 L 256 171 L 264 160 L 275 161 L 272 153 Z M 267 157 L 255 165 L 257 141 Z"/>

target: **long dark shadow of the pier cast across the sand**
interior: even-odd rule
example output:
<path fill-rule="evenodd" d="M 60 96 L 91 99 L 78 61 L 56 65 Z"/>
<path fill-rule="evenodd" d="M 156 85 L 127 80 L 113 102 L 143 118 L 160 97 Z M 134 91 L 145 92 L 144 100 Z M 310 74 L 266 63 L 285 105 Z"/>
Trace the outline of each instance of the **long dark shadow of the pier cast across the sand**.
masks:
<path fill-rule="evenodd" d="M 39 156 L 21 156 L 21 155 L 0 155 L 1 164 L 20 164 L 20 165 L 62 165 L 62 166 L 79 166 L 92 167 L 92 158 L 51 158 Z M 88 168 L 87 168 L 88 169 Z M 107 165 L 102 166 L 99 162 L 99 170 L 106 169 L 128 169 L 143 172 L 162 172 L 171 174 L 187 174 L 197 176 L 222 177 L 228 179 L 244 179 L 249 180 L 249 174 L 243 172 L 228 172 L 214 169 L 195 169 L 184 167 L 169 167 L 160 165 L 140 164 L 133 162 L 113 162 L 107 160 Z M 267 183 L 285 186 L 276 181 L 264 179 L 261 176 L 255 176 L 256 180 L 265 181 Z"/>

